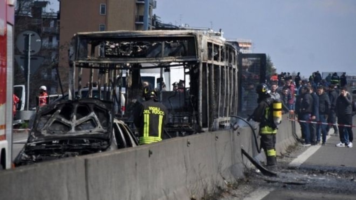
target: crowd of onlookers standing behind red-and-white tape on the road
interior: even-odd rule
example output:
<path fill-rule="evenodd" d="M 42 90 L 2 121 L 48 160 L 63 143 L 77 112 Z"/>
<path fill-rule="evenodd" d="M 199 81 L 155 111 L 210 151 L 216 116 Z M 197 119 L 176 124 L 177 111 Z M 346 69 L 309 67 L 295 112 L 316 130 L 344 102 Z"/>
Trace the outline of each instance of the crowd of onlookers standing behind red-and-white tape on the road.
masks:
<path fill-rule="evenodd" d="M 319 71 L 309 79 L 298 72 L 274 74 L 269 81 L 271 96 L 282 101 L 284 112 L 294 112 L 300 121 L 304 146 L 325 145 L 330 128 L 338 135 L 337 147 L 352 147 L 352 95 L 347 91 L 346 73 L 322 78 Z M 336 125 L 337 118 L 337 125 Z M 346 125 L 346 126 L 345 126 Z"/>

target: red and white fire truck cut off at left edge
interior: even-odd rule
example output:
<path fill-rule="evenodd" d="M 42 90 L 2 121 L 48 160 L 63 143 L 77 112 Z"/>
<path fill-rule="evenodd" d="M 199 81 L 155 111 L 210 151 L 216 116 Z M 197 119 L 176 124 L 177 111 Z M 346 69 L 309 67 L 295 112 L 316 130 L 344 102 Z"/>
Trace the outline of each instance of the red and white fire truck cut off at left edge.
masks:
<path fill-rule="evenodd" d="M 15 0 L 0 0 L 0 169 L 11 167 Z"/>

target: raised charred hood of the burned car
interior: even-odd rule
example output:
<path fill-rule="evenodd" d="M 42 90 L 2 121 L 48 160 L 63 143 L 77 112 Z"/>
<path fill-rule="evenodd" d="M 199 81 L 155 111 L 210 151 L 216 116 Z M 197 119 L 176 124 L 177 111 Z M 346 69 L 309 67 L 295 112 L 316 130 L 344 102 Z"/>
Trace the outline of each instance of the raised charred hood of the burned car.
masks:
<path fill-rule="evenodd" d="M 36 112 L 27 144 L 55 140 L 107 140 L 112 132 L 112 102 L 61 100 Z"/>

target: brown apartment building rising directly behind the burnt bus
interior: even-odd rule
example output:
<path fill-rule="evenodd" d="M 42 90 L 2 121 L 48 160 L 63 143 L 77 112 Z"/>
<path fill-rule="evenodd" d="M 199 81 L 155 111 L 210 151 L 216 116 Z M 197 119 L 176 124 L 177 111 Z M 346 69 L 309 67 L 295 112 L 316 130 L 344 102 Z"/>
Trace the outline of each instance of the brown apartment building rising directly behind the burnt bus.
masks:
<path fill-rule="evenodd" d="M 151 30 L 154 0 L 58 0 L 60 2 L 59 70 L 68 83 L 68 48 L 77 32 Z M 83 70 L 83 83 L 89 81 Z"/>

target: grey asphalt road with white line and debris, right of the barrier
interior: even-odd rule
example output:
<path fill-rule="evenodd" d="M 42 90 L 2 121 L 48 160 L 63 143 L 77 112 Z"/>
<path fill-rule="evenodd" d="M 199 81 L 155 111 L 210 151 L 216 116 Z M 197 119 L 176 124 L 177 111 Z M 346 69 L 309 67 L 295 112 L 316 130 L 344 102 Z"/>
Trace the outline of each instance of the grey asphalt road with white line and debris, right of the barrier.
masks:
<path fill-rule="evenodd" d="M 356 125 L 356 116 L 353 120 Z M 356 133 L 356 128 L 353 131 Z M 354 200 L 356 146 L 335 147 L 339 142 L 338 136 L 329 134 L 325 146 L 298 144 L 288 154 L 277 158 L 277 177 L 267 177 L 251 169 L 245 179 L 217 199 Z"/>

